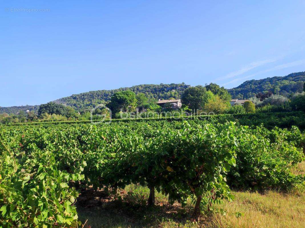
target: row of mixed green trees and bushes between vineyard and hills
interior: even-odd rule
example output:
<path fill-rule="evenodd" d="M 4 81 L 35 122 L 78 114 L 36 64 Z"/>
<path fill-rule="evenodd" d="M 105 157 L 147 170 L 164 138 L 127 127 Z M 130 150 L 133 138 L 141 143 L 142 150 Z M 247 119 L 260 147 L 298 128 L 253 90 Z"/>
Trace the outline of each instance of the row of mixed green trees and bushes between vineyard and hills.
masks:
<path fill-rule="evenodd" d="M 290 112 L 305 110 L 305 85 L 303 92 L 292 94 L 289 97 L 274 91 L 259 92 L 256 96 L 249 98 L 243 105 L 230 105 L 231 95 L 224 87 L 217 84 L 205 86 L 194 86 L 184 88 L 181 96 L 169 99 L 181 98 L 182 107 L 179 115 L 200 115 L 203 113 L 213 114 L 246 114 L 254 112 Z M 178 115 L 177 107 L 165 104 L 163 107 L 156 104 L 157 99 L 149 98 L 144 93 L 135 93 L 131 90 L 114 92 L 106 107 L 111 109 L 112 118 L 129 118 L 130 113 L 137 113 L 137 117 L 158 117 Z M 93 119 L 100 118 L 102 114 L 110 118 L 106 109 L 95 109 Z M 89 120 L 91 119 L 91 108 L 77 111 L 74 108 L 56 102 L 41 104 L 38 112 L 20 111 L 17 114 L 0 114 L 0 123 L 24 123 L 33 121 L 67 121 L 67 120 Z"/>

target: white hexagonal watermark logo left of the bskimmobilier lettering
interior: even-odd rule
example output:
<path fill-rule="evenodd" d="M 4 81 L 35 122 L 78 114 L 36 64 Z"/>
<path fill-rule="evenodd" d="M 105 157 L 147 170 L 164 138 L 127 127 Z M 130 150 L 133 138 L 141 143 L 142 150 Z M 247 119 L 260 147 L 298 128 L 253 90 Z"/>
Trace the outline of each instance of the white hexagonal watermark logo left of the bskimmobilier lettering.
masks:
<path fill-rule="evenodd" d="M 103 112 L 103 111 L 106 111 L 106 112 Z M 108 117 L 107 113 L 109 113 L 109 117 Z M 104 104 L 96 105 L 90 111 L 90 121 L 91 121 L 92 124 L 99 124 L 99 123 L 109 124 L 109 123 L 111 123 L 111 121 L 112 121 L 111 109 L 109 109 Z"/>

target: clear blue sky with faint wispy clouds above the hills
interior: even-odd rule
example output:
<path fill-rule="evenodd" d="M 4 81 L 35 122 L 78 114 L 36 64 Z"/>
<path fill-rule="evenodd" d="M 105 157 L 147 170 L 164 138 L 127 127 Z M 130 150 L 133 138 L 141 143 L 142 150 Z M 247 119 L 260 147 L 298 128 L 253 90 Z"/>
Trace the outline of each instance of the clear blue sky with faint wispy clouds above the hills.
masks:
<path fill-rule="evenodd" d="M 305 71 L 304 10 L 304 1 L 2 1 L 0 106 Z"/>

